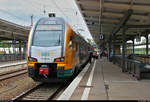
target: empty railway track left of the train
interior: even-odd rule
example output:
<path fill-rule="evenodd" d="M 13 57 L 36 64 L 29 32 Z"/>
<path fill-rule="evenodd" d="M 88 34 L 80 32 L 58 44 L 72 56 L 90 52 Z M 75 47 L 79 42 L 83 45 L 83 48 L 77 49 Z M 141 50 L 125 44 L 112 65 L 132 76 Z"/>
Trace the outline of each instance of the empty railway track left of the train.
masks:
<path fill-rule="evenodd" d="M 18 76 L 18 75 L 22 75 L 22 74 L 25 74 L 25 73 L 27 73 L 27 69 L 26 68 L 15 70 L 15 71 L 11 71 L 11 72 L 8 72 L 8 73 L 3 73 L 3 74 L 0 74 L 0 81 L 6 80 L 6 79 L 9 79 L 9 78 Z"/>

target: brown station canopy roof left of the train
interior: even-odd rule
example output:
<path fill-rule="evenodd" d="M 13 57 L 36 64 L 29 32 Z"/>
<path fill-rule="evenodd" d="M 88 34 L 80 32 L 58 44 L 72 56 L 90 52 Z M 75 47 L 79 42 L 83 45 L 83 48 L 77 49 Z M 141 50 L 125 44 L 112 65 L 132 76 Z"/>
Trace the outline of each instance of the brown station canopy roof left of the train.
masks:
<path fill-rule="evenodd" d="M 0 40 L 22 40 L 26 41 L 30 27 L 21 26 L 0 19 Z"/>

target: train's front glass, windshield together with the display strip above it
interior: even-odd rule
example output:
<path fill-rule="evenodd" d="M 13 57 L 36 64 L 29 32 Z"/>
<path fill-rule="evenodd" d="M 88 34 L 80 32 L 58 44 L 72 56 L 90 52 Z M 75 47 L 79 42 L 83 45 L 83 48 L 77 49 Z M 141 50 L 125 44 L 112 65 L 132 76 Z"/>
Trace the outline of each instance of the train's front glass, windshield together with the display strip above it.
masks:
<path fill-rule="evenodd" d="M 51 47 L 60 46 L 62 30 L 58 26 L 37 26 L 34 33 L 33 46 Z"/>

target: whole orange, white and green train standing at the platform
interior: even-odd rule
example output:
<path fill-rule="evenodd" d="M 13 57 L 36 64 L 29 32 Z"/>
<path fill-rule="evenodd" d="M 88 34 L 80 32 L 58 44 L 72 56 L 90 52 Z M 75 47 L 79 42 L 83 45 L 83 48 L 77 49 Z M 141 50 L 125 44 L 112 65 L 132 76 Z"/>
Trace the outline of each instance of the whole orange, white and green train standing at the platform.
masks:
<path fill-rule="evenodd" d="M 70 78 L 89 60 L 91 50 L 63 18 L 41 18 L 28 38 L 28 75 L 40 82 Z"/>

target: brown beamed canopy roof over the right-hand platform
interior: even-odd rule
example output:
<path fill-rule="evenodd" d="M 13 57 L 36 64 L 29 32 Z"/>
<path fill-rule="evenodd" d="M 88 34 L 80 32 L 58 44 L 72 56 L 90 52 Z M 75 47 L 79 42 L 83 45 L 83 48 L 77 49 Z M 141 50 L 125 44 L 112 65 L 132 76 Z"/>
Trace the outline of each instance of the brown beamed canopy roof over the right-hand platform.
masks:
<path fill-rule="evenodd" d="M 106 42 L 110 35 L 115 35 L 116 42 L 121 43 L 123 29 L 126 40 L 150 31 L 150 0 L 76 0 L 76 3 L 97 44 L 100 34 L 105 35 Z"/>

